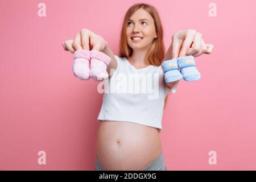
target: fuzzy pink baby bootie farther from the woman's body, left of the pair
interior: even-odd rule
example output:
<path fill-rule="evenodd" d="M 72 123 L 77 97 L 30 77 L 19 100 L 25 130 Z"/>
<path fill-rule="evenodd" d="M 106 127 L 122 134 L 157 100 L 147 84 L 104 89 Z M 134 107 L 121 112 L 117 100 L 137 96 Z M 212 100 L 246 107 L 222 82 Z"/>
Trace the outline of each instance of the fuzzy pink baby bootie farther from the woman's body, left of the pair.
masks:
<path fill-rule="evenodd" d="M 80 78 L 81 80 L 90 79 L 90 51 L 88 50 L 77 50 L 74 53 L 74 63 L 72 66 L 73 75 Z"/>

